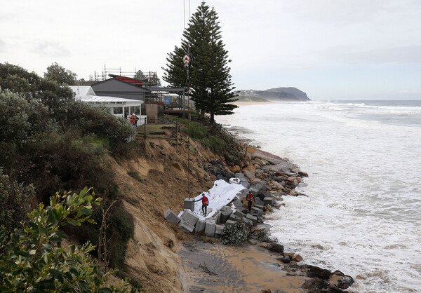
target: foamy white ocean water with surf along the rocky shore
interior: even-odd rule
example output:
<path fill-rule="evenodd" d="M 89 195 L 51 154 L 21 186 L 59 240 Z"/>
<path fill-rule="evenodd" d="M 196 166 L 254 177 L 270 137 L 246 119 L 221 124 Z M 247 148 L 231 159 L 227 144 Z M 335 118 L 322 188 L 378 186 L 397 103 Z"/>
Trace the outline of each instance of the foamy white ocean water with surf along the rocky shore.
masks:
<path fill-rule="evenodd" d="M 309 174 L 308 197 L 285 196 L 267 220 L 287 252 L 351 275 L 352 292 L 421 292 L 421 100 L 234 111 L 216 121 Z"/>

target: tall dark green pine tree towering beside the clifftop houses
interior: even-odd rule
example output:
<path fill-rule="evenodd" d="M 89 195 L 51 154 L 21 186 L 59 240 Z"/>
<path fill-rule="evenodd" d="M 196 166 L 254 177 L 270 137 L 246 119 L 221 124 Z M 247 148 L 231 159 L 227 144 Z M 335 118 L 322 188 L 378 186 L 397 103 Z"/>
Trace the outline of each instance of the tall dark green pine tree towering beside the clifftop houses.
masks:
<path fill-rule="evenodd" d="M 201 114 L 210 114 L 213 123 L 215 115 L 233 114 L 237 106 L 235 89 L 229 74 L 228 55 L 222 42 L 218 14 L 202 2 L 192 15 L 189 27 L 185 29 L 181 47 L 175 46 L 168 53 L 167 68 L 163 80 L 175 87 L 191 90 L 192 100 Z M 187 69 L 182 62 L 183 55 L 190 55 L 192 62 Z"/>

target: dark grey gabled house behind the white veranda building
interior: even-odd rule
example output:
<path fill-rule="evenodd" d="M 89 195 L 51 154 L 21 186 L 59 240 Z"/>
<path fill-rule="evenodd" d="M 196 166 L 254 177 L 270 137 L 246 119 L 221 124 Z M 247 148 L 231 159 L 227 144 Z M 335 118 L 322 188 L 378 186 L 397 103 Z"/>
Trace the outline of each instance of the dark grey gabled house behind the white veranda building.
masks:
<path fill-rule="evenodd" d="M 142 102 L 145 102 L 147 95 L 151 92 L 147 88 L 142 88 L 140 85 L 121 81 L 116 78 L 95 83 L 92 85 L 92 89 L 98 96 L 121 97 Z"/>

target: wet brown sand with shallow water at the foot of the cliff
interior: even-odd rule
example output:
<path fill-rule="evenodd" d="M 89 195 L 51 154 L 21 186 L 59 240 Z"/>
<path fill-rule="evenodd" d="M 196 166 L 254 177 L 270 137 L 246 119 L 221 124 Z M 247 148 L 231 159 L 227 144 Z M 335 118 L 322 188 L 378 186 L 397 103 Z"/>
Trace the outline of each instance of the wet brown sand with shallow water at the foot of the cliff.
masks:
<path fill-rule="evenodd" d="M 258 245 L 185 243 L 180 251 L 183 292 L 305 292 L 304 276 L 290 276 L 276 260 L 281 254 Z M 208 272 L 206 272 L 206 268 Z"/>

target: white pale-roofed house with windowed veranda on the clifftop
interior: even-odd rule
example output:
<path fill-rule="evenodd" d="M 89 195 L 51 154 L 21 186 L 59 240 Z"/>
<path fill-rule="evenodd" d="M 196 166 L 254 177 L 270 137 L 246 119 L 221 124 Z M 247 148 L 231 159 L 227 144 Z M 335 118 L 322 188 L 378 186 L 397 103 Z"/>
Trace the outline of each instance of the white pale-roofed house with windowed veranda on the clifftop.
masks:
<path fill-rule="evenodd" d="M 135 113 L 140 116 L 142 100 L 126 99 L 123 97 L 99 96 L 91 86 L 70 86 L 75 94 L 75 99 L 93 107 L 106 107 L 109 113 L 124 117 L 124 113 L 130 116 Z"/>

